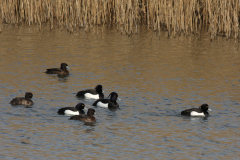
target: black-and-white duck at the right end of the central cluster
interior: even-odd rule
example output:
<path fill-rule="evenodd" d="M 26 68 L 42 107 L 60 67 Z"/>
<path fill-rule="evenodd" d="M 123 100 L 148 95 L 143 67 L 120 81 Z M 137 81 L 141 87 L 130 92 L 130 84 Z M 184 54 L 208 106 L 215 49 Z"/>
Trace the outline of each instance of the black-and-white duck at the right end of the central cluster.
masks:
<path fill-rule="evenodd" d="M 117 101 L 118 94 L 116 92 L 112 92 L 108 97 L 110 99 L 98 99 L 93 103 L 93 106 L 116 109 L 119 108 Z"/>

